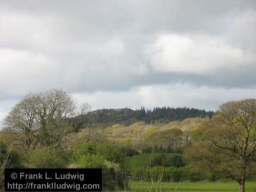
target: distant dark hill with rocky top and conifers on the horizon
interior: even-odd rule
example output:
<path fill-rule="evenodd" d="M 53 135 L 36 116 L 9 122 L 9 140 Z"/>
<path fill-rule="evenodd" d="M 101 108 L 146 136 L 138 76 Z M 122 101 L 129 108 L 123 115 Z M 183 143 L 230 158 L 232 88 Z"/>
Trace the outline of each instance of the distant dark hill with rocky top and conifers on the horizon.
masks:
<path fill-rule="evenodd" d="M 128 108 L 123 109 L 100 109 L 92 111 L 86 115 L 76 117 L 71 120 L 73 124 L 78 123 L 80 119 L 81 126 L 90 126 L 92 123 L 100 124 L 108 127 L 113 124 L 130 125 L 137 121 L 144 121 L 146 124 L 152 123 L 168 123 L 172 121 L 182 121 L 186 118 L 201 117 L 211 118 L 214 114 L 213 111 L 205 111 L 194 108 L 154 108 L 148 110 L 144 107 L 138 110 L 132 110 Z"/>

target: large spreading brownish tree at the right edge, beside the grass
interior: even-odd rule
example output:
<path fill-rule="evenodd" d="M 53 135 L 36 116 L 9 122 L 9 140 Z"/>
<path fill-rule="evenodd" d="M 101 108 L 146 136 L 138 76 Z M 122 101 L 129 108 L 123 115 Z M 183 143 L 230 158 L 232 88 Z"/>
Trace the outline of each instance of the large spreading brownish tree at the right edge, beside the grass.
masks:
<path fill-rule="evenodd" d="M 205 131 L 205 141 L 185 154 L 198 166 L 236 180 L 244 192 L 256 168 L 256 99 L 222 104 Z"/>

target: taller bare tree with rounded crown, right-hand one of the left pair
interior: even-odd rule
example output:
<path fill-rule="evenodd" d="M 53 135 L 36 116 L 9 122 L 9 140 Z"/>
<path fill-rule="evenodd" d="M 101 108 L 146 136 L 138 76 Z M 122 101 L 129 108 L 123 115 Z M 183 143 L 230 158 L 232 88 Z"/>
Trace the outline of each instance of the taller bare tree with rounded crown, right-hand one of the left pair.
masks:
<path fill-rule="evenodd" d="M 36 121 L 39 125 L 37 141 L 42 145 L 58 147 L 68 131 L 68 118 L 76 115 L 74 99 L 62 90 L 52 89 L 37 94 Z"/>

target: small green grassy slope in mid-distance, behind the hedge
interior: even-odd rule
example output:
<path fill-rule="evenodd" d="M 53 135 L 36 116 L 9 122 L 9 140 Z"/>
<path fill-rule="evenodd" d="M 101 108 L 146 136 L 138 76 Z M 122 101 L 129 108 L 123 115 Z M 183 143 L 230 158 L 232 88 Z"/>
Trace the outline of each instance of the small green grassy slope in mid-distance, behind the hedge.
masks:
<path fill-rule="evenodd" d="M 126 166 L 132 167 L 135 165 L 135 167 L 147 167 L 148 166 L 147 163 L 150 161 L 151 158 L 153 158 L 154 156 L 160 156 L 161 154 L 164 154 L 165 162 L 167 162 L 174 155 L 177 155 L 175 153 L 153 153 L 153 154 L 135 155 L 135 156 L 127 158 Z"/>

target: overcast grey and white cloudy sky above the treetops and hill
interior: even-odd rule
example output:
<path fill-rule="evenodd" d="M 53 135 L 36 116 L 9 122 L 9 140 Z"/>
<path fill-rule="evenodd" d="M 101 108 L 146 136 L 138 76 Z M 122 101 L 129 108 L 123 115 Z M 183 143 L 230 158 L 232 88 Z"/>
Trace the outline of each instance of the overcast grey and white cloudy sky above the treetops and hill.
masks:
<path fill-rule="evenodd" d="M 94 110 L 256 98 L 256 1 L 2 0 L 0 121 L 52 88 Z"/>

